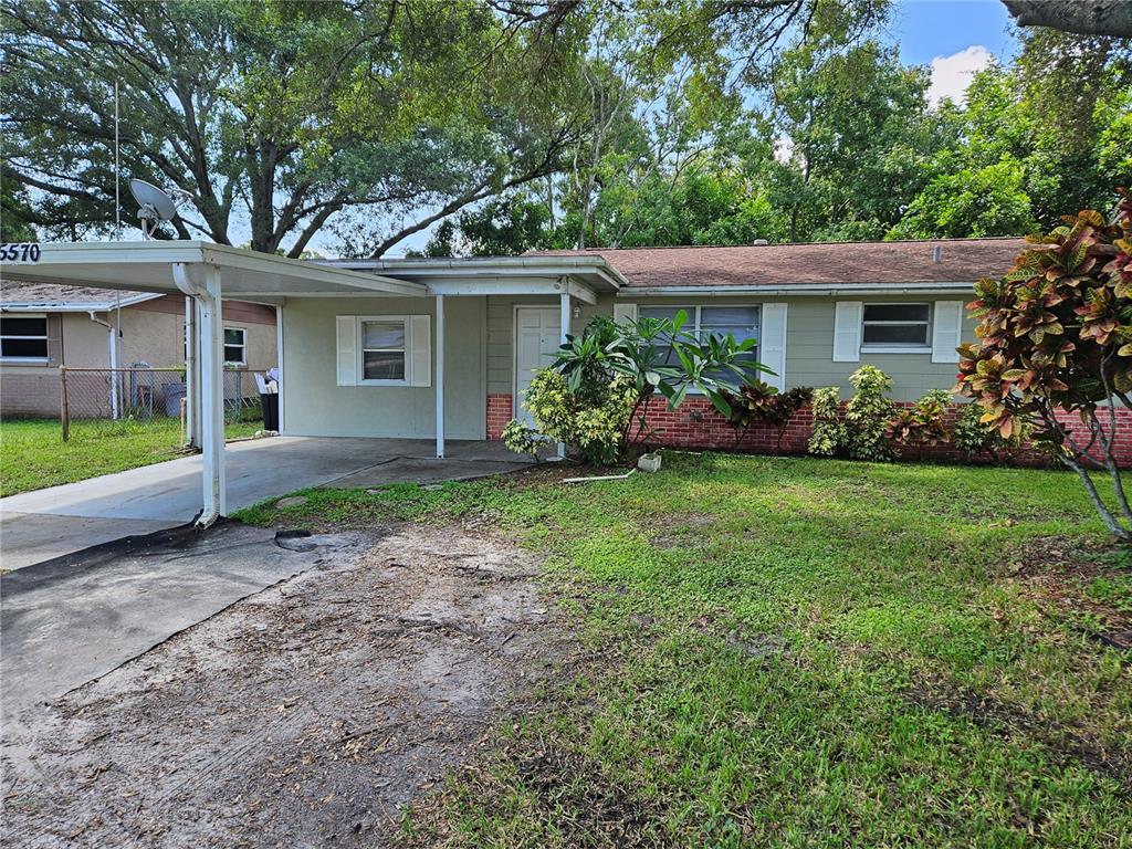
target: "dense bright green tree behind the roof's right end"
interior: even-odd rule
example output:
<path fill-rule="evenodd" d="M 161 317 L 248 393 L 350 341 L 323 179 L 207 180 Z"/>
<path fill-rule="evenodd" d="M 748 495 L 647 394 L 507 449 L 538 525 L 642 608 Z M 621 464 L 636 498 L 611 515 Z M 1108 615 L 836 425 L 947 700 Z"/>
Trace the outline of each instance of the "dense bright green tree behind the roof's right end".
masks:
<path fill-rule="evenodd" d="M 1107 208 L 1132 180 L 1132 57 L 1112 38 L 1028 32 L 1011 68 L 975 76 L 941 115 L 951 140 L 890 238 L 1021 235 Z"/>

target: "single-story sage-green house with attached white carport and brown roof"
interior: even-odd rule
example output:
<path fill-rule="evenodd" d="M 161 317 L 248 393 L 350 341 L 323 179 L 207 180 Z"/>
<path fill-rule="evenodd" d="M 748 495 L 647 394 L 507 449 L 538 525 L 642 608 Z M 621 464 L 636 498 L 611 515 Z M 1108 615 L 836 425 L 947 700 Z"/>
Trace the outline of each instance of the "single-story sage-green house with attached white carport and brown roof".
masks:
<path fill-rule="evenodd" d="M 782 388 L 838 385 L 871 362 L 912 401 L 955 378 L 964 303 L 1020 239 L 551 251 L 518 257 L 297 260 L 197 241 L 43 243 L 0 272 L 195 299 L 190 424 L 205 454 L 203 523 L 223 512 L 222 298 L 277 309 L 283 434 L 498 438 L 534 369 L 597 315 L 685 309 L 757 340 Z M 11 251 L 8 257 L 11 257 Z M 199 392 L 191 387 L 199 386 Z M 718 443 L 689 400 L 664 438 Z"/>

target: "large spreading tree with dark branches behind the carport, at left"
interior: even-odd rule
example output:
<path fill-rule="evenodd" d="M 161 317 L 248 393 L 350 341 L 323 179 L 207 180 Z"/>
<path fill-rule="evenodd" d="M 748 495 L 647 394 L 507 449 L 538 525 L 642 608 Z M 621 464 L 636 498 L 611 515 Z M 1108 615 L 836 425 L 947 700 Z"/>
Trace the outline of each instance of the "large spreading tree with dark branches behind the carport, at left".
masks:
<path fill-rule="evenodd" d="M 120 80 L 123 175 L 190 194 L 181 238 L 377 256 L 561 166 L 585 33 L 552 6 L 6 0 L 3 174 L 49 234 L 108 232 Z"/>

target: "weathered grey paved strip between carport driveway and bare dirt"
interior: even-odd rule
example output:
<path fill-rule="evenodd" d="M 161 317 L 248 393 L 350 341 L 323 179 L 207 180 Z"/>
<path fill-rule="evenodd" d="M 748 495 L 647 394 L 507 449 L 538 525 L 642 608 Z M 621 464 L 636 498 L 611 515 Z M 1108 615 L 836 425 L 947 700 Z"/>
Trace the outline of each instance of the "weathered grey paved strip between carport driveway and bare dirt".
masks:
<path fill-rule="evenodd" d="M 6 732 L 61 696 L 177 632 L 309 569 L 355 537 L 281 548 L 275 532 L 223 521 L 127 537 L 0 578 Z"/>

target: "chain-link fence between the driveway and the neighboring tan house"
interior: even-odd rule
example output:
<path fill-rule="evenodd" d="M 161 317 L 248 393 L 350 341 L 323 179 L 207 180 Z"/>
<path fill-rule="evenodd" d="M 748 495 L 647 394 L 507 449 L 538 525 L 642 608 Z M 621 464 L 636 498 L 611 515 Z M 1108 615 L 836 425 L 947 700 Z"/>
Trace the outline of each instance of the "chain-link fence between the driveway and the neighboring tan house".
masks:
<path fill-rule="evenodd" d="M 185 370 L 175 368 L 59 369 L 62 438 L 146 431 L 170 444 L 188 441 Z M 260 427 L 252 369 L 224 369 L 224 423 L 229 436 Z"/>

